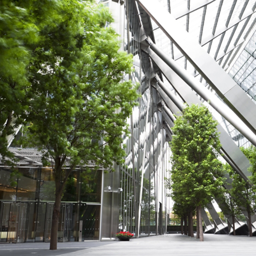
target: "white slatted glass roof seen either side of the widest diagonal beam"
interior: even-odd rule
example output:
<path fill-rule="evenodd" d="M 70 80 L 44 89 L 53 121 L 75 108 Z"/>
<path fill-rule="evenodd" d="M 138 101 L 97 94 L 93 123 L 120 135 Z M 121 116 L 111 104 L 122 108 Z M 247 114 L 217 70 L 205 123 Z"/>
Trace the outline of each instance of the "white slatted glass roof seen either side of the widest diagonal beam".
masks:
<path fill-rule="evenodd" d="M 155 1 L 166 8 L 225 70 L 256 23 L 255 0 Z M 198 75 L 152 19 L 151 23 L 156 44 L 189 73 Z"/>

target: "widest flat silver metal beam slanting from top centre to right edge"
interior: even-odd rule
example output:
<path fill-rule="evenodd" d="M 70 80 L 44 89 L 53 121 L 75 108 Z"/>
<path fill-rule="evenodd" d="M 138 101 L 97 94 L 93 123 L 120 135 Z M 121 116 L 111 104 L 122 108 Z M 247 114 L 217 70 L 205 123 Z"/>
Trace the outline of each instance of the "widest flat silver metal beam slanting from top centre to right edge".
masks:
<path fill-rule="evenodd" d="M 256 105 L 248 101 L 244 91 L 237 87 L 237 83 L 215 62 L 215 60 L 198 44 L 172 15 L 164 8 L 155 8 L 154 0 L 137 0 L 155 23 L 162 29 L 167 37 L 177 46 L 184 56 L 191 62 L 196 70 L 211 85 L 221 98 L 234 110 L 254 132 L 256 131 Z M 227 94 L 233 87 L 236 88 L 237 97 Z M 239 103 L 238 103 L 239 98 Z M 241 102 L 250 109 L 244 113 Z M 252 114 L 253 113 L 253 114 Z"/>

